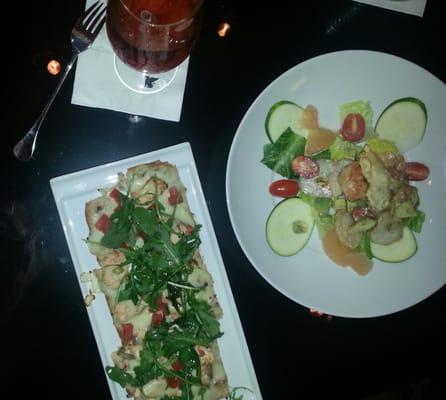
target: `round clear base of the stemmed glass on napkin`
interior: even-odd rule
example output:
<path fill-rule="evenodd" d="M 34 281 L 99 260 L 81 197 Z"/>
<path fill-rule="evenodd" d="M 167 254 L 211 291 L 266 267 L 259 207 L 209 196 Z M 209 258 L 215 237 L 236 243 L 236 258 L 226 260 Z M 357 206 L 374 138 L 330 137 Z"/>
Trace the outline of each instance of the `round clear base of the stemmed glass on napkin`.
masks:
<path fill-rule="evenodd" d="M 140 94 L 155 94 L 167 88 L 178 71 L 178 67 L 160 74 L 152 74 L 136 71 L 124 64 L 119 57 L 114 55 L 115 73 L 121 83 L 133 92 Z"/>

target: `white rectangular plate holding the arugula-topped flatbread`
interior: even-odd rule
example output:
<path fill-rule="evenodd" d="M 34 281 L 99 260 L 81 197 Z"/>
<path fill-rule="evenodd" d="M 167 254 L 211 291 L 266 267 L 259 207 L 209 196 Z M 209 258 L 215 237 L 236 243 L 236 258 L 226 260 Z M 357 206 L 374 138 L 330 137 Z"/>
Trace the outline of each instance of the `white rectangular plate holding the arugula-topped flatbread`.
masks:
<path fill-rule="evenodd" d="M 118 179 L 118 172 L 125 172 L 129 167 L 156 160 L 169 162 L 178 168 L 180 178 L 187 188 L 188 204 L 197 223 L 202 225 L 200 252 L 214 279 L 217 298 L 224 312 L 223 319 L 220 321 L 224 335 L 218 342 L 230 388 L 247 387 L 252 390 L 252 393 L 244 391 L 244 400 L 261 400 L 257 378 L 189 143 L 178 144 L 50 180 L 82 294 L 84 297 L 88 294 L 89 285 L 80 280 L 81 274 L 98 266 L 96 258 L 90 254 L 84 242 L 88 236 L 85 203 L 99 195 L 98 188 L 114 185 Z M 120 339 L 103 295 L 96 296 L 93 303 L 87 307 L 87 312 L 105 371 L 107 365 L 113 365 L 111 353 L 119 347 Z M 107 381 L 113 399 L 127 399 L 124 389 L 119 384 L 108 378 Z"/>

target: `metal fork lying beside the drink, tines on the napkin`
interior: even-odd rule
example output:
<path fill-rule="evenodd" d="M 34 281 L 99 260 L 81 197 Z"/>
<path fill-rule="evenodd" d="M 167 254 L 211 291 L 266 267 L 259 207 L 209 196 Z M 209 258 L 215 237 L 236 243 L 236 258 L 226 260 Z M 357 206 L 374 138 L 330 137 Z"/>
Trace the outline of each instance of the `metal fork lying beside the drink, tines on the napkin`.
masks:
<path fill-rule="evenodd" d="M 18 160 L 29 161 L 31 159 L 36 148 L 37 134 L 39 133 L 40 126 L 42 125 L 46 113 L 59 92 L 59 89 L 62 87 L 65 78 L 71 71 L 73 64 L 76 62 L 78 55 L 87 50 L 96 39 L 105 22 L 105 10 L 105 5 L 101 1 L 97 1 L 76 21 L 76 24 L 71 31 L 71 47 L 73 49 L 71 59 L 66 65 L 59 83 L 36 122 L 26 135 L 14 146 L 13 153 Z"/>

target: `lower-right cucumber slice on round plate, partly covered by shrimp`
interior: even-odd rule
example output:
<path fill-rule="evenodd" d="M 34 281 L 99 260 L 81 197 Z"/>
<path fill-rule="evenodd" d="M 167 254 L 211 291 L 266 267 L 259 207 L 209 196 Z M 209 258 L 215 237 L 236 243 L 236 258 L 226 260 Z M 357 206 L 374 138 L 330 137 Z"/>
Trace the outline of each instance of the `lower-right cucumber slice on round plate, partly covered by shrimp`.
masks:
<path fill-rule="evenodd" d="M 413 232 L 405 226 L 400 240 L 387 245 L 370 242 L 370 250 L 373 257 L 396 263 L 409 259 L 417 252 L 417 241 Z"/>

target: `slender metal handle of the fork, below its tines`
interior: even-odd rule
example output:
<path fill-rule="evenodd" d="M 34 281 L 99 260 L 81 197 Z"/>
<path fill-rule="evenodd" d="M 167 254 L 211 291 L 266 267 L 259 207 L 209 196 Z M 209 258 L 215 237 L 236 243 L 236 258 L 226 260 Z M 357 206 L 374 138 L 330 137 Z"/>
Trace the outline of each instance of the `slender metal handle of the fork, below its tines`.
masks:
<path fill-rule="evenodd" d="M 51 97 L 48 99 L 48 102 L 46 103 L 44 109 L 40 113 L 39 117 L 34 122 L 34 125 L 31 127 L 31 129 L 26 133 L 25 136 L 20 139 L 20 141 L 14 146 L 13 153 L 14 156 L 20 160 L 20 161 L 29 161 L 34 154 L 34 150 L 36 148 L 36 140 L 37 135 L 39 133 L 40 125 L 42 125 L 43 120 L 45 119 L 45 116 L 48 112 L 48 110 L 51 107 L 51 104 L 53 104 L 53 101 L 59 93 L 60 88 L 62 87 L 65 78 L 68 76 L 69 72 L 71 71 L 71 68 L 73 67 L 74 63 L 76 62 L 77 56 L 79 55 L 78 52 L 73 52 L 70 61 L 65 66 L 62 76 L 59 79 L 59 82 L 57 83 L 57 86 L 53 90 L 53 93 L 51 94 Z"/>

